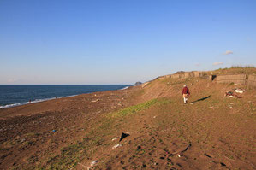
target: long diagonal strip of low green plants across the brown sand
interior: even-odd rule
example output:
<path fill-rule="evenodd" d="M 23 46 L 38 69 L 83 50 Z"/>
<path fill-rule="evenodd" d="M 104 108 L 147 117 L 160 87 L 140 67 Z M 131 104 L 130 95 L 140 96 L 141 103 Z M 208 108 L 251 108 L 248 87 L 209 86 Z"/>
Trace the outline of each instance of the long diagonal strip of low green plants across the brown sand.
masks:
<path fill-rule="evenodd" d="M 69 169 L 75 167 L 80 160 L 83 160 L 85 157 L 90 157 L 90 155 L 96 151 L 96 146 L 103 144 L 103 137 L 110 134 L 110 130 L 115 126 L 113 122 L 116 122 L 118 118 L 139 113 L 140 111 L 146 110 L 155 104 L 162 105 L 168 103 L 170 103 L 170 100 L 167 98 L 152 99 L 145 103 L 139 103 L 128 108 L 123 108 L 117 112 L 110 113 L 108 114 L 107 119 L 104 117 L 104 120 L 101 121 L 101 125 L 92 129 L 92 131 L 89 132 L 86 135 L 86 138 L 83 138 L 81 142 L 64 147 L 61 149 L 60 155 L 51 156 L 47 160 L 46 166 L 41 165 L 37 168 Z"/>

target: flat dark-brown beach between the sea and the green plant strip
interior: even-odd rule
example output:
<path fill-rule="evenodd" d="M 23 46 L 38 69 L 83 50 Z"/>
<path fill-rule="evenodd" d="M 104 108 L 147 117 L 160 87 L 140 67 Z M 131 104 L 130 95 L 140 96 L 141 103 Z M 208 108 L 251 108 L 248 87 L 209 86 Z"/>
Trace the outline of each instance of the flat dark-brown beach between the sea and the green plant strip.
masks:
<path fill-rule="evenodd" d="M 27 163 L 32 156 L 41 161 L 51 158 L 85 138 L 85 132 L 98 125 L 104 114 L 130 106 L 136 90 L 132 86 L 0 109 L 0 169 L 33 167 L 34 162 Z"/>

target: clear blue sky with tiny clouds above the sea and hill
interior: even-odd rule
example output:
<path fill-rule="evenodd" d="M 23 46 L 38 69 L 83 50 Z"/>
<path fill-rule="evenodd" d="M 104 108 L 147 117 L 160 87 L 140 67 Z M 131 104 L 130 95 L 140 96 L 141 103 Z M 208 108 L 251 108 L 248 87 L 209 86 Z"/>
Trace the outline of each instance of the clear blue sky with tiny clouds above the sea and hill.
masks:
<path fill-rule="evenodd" d="M 255 0 L 0 0 L 0 84 L 134 84 L 255 64 Z"/>

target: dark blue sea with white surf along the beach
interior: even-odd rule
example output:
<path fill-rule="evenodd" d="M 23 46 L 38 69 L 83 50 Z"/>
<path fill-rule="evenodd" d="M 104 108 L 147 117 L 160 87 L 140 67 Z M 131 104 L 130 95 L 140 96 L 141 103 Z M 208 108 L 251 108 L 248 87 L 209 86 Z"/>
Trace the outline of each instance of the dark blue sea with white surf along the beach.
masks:
<path fill-rule="evenodd" d="M 0 108 L 96 91 L 121 90 L 128 86 L 131 85 L 0 85 Z"/>

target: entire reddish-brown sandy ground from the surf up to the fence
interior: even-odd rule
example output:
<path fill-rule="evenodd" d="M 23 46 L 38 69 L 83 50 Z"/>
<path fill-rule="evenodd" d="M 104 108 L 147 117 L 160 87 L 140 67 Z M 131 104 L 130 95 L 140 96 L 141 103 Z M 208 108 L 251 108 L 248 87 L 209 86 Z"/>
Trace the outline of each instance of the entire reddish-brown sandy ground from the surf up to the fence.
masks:
<path fill-rule="evenodd" d="M 188 104 L 182 103 L 184 84 Z M 155 79 L 143 88 L 0 110 L 0 167 L 253 169 L 256 92 L 223 97 L 238 87 Z M 129 136 L 119 142 L 122 132 Z"/>

